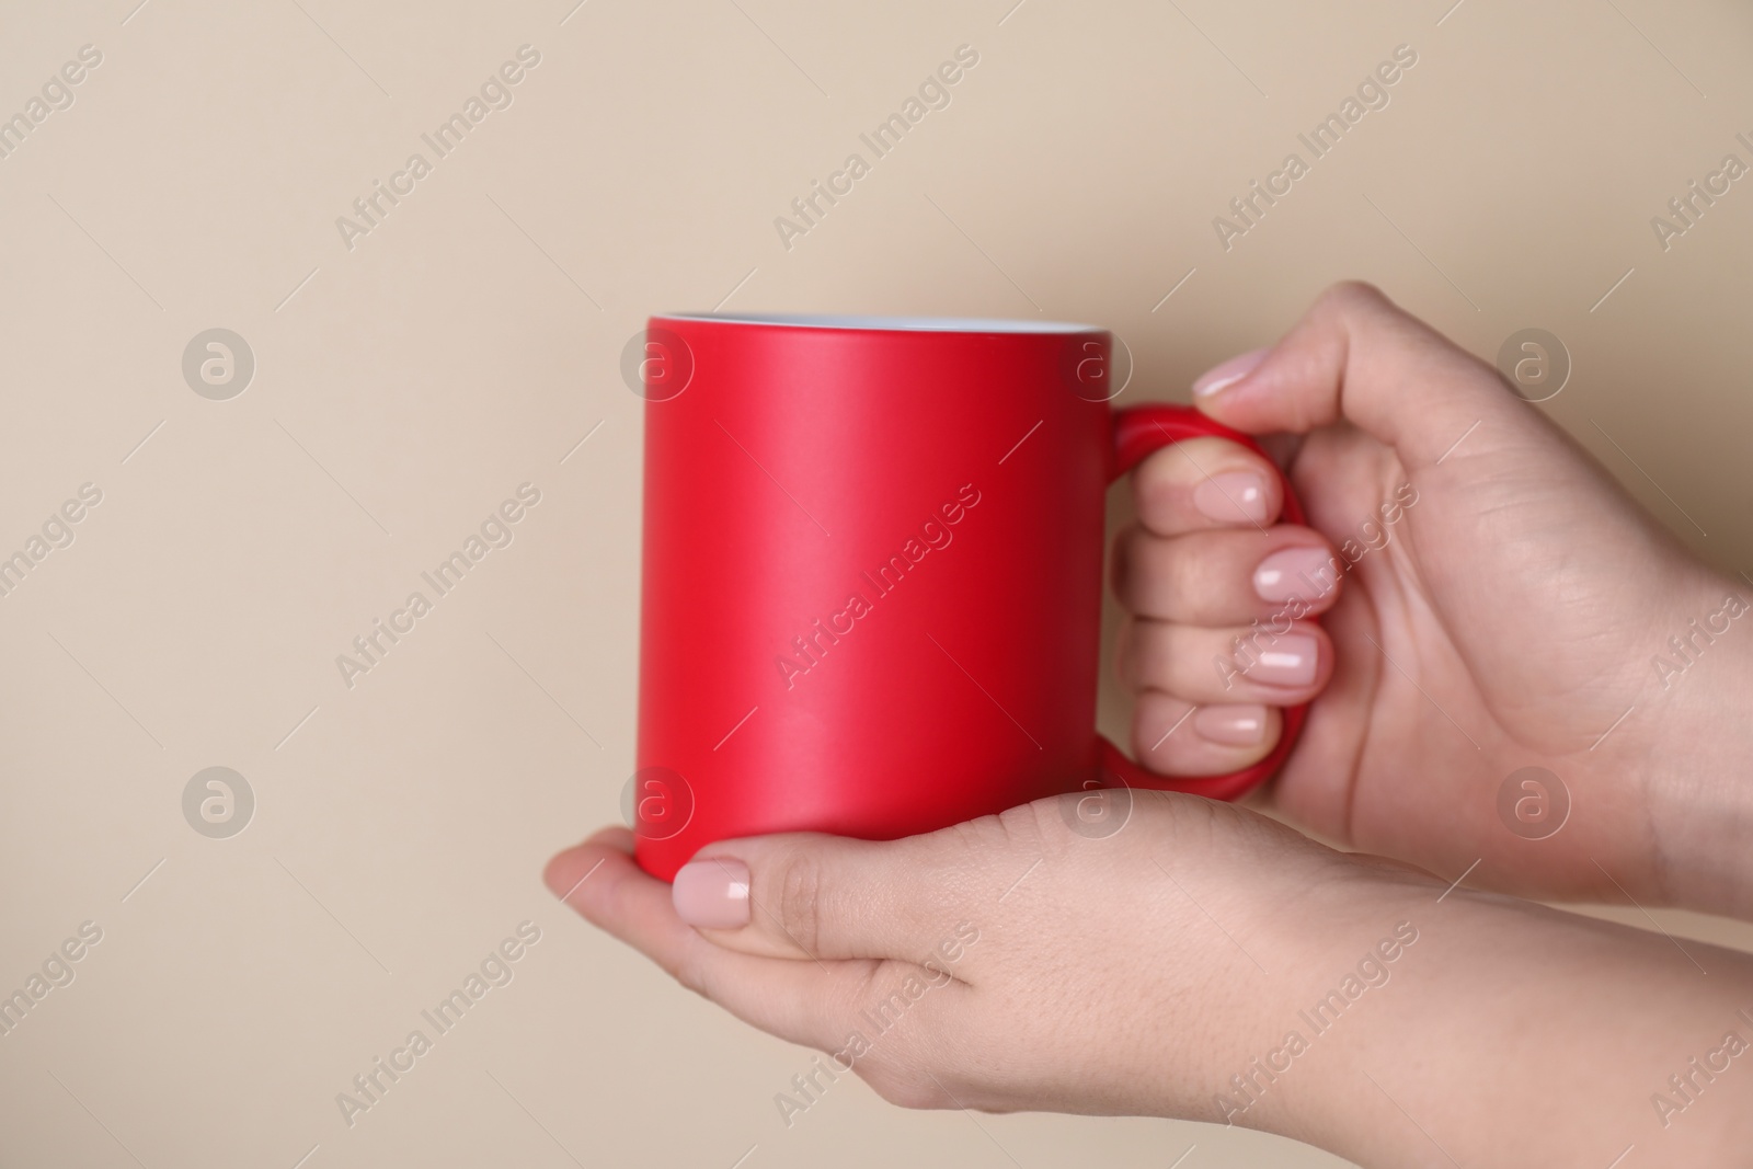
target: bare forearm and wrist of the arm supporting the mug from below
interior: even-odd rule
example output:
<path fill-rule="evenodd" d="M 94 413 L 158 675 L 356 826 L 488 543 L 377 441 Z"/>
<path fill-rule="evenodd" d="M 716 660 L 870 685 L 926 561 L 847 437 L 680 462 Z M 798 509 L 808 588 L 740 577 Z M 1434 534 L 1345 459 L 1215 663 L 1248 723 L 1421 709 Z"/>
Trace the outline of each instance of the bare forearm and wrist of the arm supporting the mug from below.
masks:
<path fill-rule="evenodd" d="M 1255 1027 L 1253 1046 L 1278 1031 L 1262 1050 L 1288 1048 L 1295 1032 L 1299 1053 L 1224 1071 L 1215 1092 L 1238 1102 L 1229 1122 L 1360 1164 L 1608 1164 L 1630 1143 L 1716 1164 L 1713 1150 L 1753 1137 L 1753 1080 L 1720 1076 L 1713 1108 L 1688 1106 L 1672 1129 L 1653 1108 L 1688 1055 L 1713 1059 L 1725 1031 L 1746 1034 L 1746 955 L 1688 943 L 1686 960 L 1655 934 L 1360 861 L 1367 880 L 1336 882 L 1353 899 L 1345 924 L 1306 915 L 1302 932 L 1327 938 L 1274 980 L 1262 1018 L 1276 1022 Z M 1364 922 L 1416 938 L 1376 973 L 1359 962 Z M 1346 987 L 1362 974 L 1374 978 Z M 1544 1059 L 1555 1052 L 1557 1083 Z M 1196 1116 L 1225 1120 L 1217 1106 Z"/>

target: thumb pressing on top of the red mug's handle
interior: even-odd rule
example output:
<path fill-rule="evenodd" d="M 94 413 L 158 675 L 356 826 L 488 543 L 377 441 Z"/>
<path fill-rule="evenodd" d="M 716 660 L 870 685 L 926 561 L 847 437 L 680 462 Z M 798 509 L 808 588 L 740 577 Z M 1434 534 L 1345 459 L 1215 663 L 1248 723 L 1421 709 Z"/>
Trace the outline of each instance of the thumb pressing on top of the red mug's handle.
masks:
<path fill-rule="evenodd" d="M 1557 442 L 1495 370 L 1359 282 L 1322 293 L 1271 349 L 1201 377 L 1194 405 L 1252 435 L 1301 435 L 1345 419 L 1394 447 L 1409 468 L 1450 452 Z M 1457 449 L 1464 435 L 1466 450 Z"/>

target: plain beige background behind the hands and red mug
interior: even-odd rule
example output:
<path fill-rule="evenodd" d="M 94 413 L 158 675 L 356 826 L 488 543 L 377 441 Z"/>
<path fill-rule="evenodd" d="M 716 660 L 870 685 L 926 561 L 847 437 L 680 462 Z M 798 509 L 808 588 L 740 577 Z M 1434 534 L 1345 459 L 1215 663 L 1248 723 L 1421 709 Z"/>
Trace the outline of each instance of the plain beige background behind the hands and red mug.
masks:
<path fill-rule="evenodd" d="M 103 492 L 0 598 L 0 988 L 103 929 L 0 1039 L 4 1164 L 1336 1164 L 857 1083 L 787 1130 L 806 1052 L 542 889 L 631 771 L 617 366 L 649 312 L 1092 321 L 1136 354 L 1124 400 L 1185 398 L 1364 277 L 1487 356 L 1557 333 L 1574 373 L 1537 408 L 1753 566 L 1753 181 L 1665 252 L 1650 228 L 1749 158 L 1742 4 L 135 2 L 0 7 L 4 116 L 103 54 L 0 159 L 0 552 Z M 335 217 L 521 44 L 515 103 L 347 251 Z M 961 44 L 954 103 L 782 247 Z M 1399 44 L 1392 103 L 1225 252 L 1211 217 Z M 214 326 L 258 363 L 230 401 L 181 373 Z M 349 691 L 335 655 L 521 482 L 515 542 Z M 258 801 L 231 840 L 181 811 L 214 764 Z M 335 1094 L 524 918 L 515 981 L 345 1127 Z"/>

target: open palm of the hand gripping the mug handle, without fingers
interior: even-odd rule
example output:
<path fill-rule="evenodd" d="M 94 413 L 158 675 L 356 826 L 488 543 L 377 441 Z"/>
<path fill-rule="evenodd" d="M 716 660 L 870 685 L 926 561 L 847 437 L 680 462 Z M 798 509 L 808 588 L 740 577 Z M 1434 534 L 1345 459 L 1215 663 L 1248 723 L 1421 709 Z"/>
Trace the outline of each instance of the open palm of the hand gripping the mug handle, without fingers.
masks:
<path fill-rule="evenodd" d="M 1625 776 L 1660 717 L 1615 722 L 1653 678 L 1667 626 L 1690 615 L 1665 538 L 1541 426 L 1473 433 L 1408 473 L 1392 449 L 1338 424 L 1308 436 L 1290 473 L 1336 543 L 1401 484 L 1418 498 L 1324 620 L 1338 666 L 1278 803 L 1324 834 L 1450 876 L 1480 861 L 1480 883 L 1599 892 L 1608 882 L 1588 857 L 1623 840 L 1588 813 L 1629 797 Z M 1537 841 L 1497 810 L 1506 776 L 1527 766 L 1553 771 L 1572 801 L 1564 831 Z"/>

